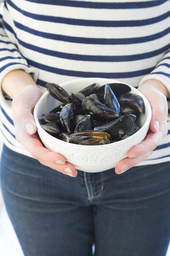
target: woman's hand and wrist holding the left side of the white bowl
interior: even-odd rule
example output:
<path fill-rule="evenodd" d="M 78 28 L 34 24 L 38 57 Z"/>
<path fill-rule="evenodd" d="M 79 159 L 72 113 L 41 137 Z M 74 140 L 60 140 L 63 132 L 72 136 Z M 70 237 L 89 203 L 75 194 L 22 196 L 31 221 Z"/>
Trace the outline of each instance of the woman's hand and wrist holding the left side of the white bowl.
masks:
<path fill-rule="evenodd" d="M 24 71 L 21 71 L 23 74 Z M 23 77 L 25 74 L 23 74 Z M 8 84 L 8 82 L 9 79 L 5 77 L 3 81 L 3 90 L 5 92 L 6 84 Z M 35 107 L 43 92 L 41 92 L 41 90 L 38 88 L 38 86 L 36 86 L 34 82 L 31 83 L 32 84 L 30 85 L 25 84 L 25 86 L 23 85 L 24 82 L 21 83 L 22 86 L 18 86 L 20 89 L 17 93 L 15 91 L 16 95 L 14 95 L 12 101 L 12 115 L 15 126 L 16 140 L 18 140 L 33 157 L 37 158 L 41 164 L 46 165 L 56 171 L 62 172 L 66 175 L 70 175 L 71 177 L 76 177 L 77 170 L 75 167 L 72 164 L 67 163 L 62 155 L 49 151 L 43 147 L 39 139 L 39 136 L 36 132 L 37 128 L 35 119 L 33 117 L 33 108 Z M 12 98 L 13 95 L 10 95 L 10 97 Z"/>

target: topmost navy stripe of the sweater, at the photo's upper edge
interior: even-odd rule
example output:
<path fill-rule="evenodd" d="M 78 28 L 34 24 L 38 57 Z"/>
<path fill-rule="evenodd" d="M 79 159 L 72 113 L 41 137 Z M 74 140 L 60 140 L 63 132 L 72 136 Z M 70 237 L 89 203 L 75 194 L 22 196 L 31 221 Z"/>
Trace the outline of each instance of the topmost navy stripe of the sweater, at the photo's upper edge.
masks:
<path fill-rule="evenodd" d="M 37 3 L 37 0 L 26 0 L 31 3 Z M 8 1 L 7 1 L 8 2 Z M 118 2 L 118 1 L 117 1 Z M 134 8 L 148 8 L 159 6 L 166 3 L 167 0 L 162 1 L 143 1 L 143 2 L 127 2 L 127 3 L 107 3 L 107 2 L 85 2 L 85 1 L 68 1 L 68 0 L 39 0 L 39 4 L 51 4 L 70 7 L 81 8 L 95 8 L 95 9 L 134 9 Z"/>

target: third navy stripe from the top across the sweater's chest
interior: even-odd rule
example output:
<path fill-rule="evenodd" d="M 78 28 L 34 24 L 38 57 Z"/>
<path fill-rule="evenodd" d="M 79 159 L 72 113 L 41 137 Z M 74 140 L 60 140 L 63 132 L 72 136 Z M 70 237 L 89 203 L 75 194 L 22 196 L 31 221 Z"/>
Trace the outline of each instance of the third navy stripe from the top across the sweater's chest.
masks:
<path fill-rule="evenodd" d="M 14 21 L 15 27 L 26 31 L 32 35 L 40 36 L 43 38 L 53 39 L 57 41 L 64 41 L 64 42 L 72 42 L 72 43 L 80 43 L 80 44 L 102 44 L 102 45 L 117 45 L 117 44 L 139 44 L 145 43 L 149 41 L 154 41 L 159 39 L 167 34 L 170 33 L 170 27 L 165 29 L 164 31 L 150 35 L 150 36 L 143 36 L 143 37 L 133 37 L 133 38 L 87 38 L 87 37 L 73 37 L 73 36 L 64 36 L 64 35 L 57 35 L 52 33 L 45 33 L 41 32 L 27 26 L 22 25 L 19 22 Z M 7 26 L 5 22 L 5 27 Z"/>

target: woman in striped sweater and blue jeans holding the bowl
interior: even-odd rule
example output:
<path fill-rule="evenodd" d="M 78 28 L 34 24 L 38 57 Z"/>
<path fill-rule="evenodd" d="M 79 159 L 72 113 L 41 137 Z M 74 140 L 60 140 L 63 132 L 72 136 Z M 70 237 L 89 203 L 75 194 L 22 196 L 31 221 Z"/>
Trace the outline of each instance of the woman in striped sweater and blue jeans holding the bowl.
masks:
<path fill-rule="evenodd" d="M 1 184 L 24 255 L 87 256 L 94 243 L 96 256 L 165 255 L 169 1 L 6 0 L 3 12 Z M 36 133 L 46 83 L 80 77 L 139 86 L 150 102 L 150 132 L 115 169 L 77 171 Z"/>

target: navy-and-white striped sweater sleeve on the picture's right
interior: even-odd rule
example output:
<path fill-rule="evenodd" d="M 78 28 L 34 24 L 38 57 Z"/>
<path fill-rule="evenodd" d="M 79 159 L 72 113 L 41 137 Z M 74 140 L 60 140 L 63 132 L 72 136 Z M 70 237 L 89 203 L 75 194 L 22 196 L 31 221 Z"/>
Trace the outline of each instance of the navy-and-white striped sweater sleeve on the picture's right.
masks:
<path fill-rule="evenodd" d="M 140 81 L 139 86 L 148 79 L 156 79 L 162 82 L 170 94 L 170 49 L 166 52 L 163 59 L 157 64 L 154 70 Z M 168 103 L 168 121 L 170 121 L 170 95 L 167 98 Z"/>

